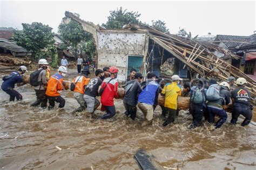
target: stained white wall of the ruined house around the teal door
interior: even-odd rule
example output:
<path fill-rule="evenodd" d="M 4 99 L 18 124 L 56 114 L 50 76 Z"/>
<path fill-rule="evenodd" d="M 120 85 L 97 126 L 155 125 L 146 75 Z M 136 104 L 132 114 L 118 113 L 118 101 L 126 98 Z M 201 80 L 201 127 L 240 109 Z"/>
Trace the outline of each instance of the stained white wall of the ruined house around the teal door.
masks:
<path fill-rule="evenodd" d="M 118 81 L 126 79 L 127 56 L 144 56 L 146 33 L 132 31 L 98 32 L 98 68 L 116 66 Z"/>

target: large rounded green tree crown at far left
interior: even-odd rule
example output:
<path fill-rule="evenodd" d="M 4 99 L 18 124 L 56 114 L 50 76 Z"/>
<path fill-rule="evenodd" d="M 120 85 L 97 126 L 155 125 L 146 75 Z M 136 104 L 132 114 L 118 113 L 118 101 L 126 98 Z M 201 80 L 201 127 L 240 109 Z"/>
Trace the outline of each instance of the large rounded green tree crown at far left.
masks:
<path fill-rule="evenodd" d="M 14 40 L 17 45 L 37 53 L 46 46 L 54 44 L 52 28 L 48 25 L 33 22 L 32 24 L 23 23 L 22 26 L 22 31 L 14 32 Z"/>

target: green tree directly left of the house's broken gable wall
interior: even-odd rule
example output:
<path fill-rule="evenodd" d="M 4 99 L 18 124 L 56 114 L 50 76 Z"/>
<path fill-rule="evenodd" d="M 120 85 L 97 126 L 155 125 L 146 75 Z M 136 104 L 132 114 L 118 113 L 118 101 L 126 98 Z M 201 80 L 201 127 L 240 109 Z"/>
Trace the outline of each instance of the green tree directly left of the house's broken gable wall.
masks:
<path fill-rule="evenodd" d="M 79 17 L 77 13 L 76 15 Z M 85 40 L 85 32 L 82 26 L 73 20 L 68 24 L 62 22 L 58 26 L 58 33 L 75 49 L 75 56 L 77 57 L 77 45 L 82 42 L 82 40 Z"/>

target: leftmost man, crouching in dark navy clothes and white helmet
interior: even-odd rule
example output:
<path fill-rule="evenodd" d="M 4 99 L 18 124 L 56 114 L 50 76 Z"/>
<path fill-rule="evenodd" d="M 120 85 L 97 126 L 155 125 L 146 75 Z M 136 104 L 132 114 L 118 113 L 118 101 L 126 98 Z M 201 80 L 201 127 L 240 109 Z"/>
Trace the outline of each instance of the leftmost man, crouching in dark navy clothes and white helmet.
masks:
<path fill-rule="evenodd" d="M 22 95 L 19 94 L 19 92 L 17 92 L 16 90 L 14 90 L 14 87 L 17 83 L 17 86 L 24 85 L 22 83 L 21 75 L 25 72 L 28 72 L 28 70 L 26 69 L 26 66 L 23 65 L 19 67 L 18 71 L 14 71 L 9 76 L 3 77 L 4 82 L 2 84 L 2 90 L 10 95 L 9 101 L 14 101 L 15 98 L 17 99 L 17 101 L 22 100 Z"/>

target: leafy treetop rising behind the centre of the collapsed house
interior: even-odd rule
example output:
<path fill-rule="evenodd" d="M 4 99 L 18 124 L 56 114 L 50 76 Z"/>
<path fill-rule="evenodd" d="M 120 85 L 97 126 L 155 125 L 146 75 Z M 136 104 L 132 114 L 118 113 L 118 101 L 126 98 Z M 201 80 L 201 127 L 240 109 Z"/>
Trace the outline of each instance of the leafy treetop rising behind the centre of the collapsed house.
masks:
<path fill-rule="evenodd" d="M 106 24 L 102 24 L 102 26 L 106 29 L 120 29 L 129 23 L 139 24 L 139 16 L 140 13 L 138 12 L 128 12 L 127 9 L 123 10 L 120 7 L 116 11 L 110 11 L 110 16 L 107 17 Z"/>

